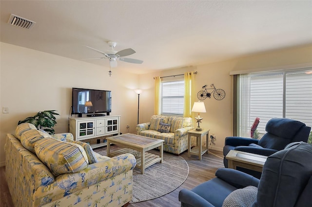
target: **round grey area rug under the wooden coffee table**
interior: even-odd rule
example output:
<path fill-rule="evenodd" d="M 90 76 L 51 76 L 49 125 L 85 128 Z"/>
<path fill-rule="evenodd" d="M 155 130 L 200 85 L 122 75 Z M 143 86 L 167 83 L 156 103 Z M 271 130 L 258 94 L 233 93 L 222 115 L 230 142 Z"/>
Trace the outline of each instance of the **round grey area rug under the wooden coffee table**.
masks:
<path fill-rule="evenodd" d="M 106 155 L 106 147 L 94 151 Z M 159 151 L 151 150 L 149 153 L 158 155 Z M 188 175 L 189 166 L 183 157 L 164 152 L 163 162 L 146 168 L 144 174 L 138 168 L 133 169 L 133 198 L 130 203 L 147 201 L 170 193 L 182 185 Z"/>

